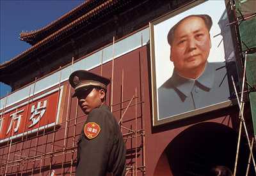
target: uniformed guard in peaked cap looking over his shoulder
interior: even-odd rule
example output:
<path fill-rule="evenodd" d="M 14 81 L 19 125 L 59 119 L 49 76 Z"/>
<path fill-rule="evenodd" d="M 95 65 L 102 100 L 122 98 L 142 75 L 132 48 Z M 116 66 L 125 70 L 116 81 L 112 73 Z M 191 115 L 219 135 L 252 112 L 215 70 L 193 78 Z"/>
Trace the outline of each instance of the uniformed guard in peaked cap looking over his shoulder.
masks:
<path fill-rule="evenodd" d="M 73 97 L 88 115 L 77 143 L 76 175 L 125 175 L 125 143 L 120 126 L 106 106 L 109 79 L 89 71 L 74 71 L 69 82 Z"/>

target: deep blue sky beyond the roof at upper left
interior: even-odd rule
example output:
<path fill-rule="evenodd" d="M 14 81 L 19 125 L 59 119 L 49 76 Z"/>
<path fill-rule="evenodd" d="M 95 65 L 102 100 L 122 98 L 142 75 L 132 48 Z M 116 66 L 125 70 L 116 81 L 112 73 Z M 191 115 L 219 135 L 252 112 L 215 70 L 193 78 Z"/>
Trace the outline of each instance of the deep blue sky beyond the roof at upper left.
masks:
<path fill-rule="evenodd" d="M 31 45 L 19 40 L 22 31 L 35 31 L 83 3 L 81 0 L 0 0 L 0 60 L 10 61 Z M 0 97 L 10 92 L 10 87 L 0 83 Z"/>

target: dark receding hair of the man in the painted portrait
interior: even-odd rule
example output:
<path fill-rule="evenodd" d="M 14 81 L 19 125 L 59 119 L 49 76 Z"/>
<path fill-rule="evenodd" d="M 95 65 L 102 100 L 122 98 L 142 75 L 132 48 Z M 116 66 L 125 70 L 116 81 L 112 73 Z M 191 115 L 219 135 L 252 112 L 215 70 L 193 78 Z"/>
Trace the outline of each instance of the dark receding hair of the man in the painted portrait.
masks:
<path fill-rule="evenodd" d="M 186 20 L 186 18 L 190 18 L 190 17 L 199 17 L 202 18 L 204 20 L 205 26 L 207 27 L 208 31 L 210 31 L 211 27 L 212 27 L 212 18 L 209 15 L 189 15 L 188 17 L 182 18 L 182 20 L 180 20 L 179 22 L 177 22 L 177 24 L 175 24 L 175 26 L 173 26 L 168 35 L 167 35 L 167 40 L 170 46 L 172 46 L 172 42 L 174 39 L 174 33 L 175 30 L 177 29 L 177 27 L 180 25 L 180 23 L 183 20 Z"/>

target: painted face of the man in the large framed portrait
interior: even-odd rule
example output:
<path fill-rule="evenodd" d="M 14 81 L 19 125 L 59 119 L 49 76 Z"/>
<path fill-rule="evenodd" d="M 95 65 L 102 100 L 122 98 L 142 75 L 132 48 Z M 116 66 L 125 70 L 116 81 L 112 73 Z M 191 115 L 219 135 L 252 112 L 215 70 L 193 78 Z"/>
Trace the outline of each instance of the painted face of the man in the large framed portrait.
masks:
<path fill-rule="evenodd" d="M 180 75 L 190 78 L 189 74 L 204 71 L 210 48 L 210 34 L 204 20 L 189 17 L 175 29 L 170 59 Z"/>

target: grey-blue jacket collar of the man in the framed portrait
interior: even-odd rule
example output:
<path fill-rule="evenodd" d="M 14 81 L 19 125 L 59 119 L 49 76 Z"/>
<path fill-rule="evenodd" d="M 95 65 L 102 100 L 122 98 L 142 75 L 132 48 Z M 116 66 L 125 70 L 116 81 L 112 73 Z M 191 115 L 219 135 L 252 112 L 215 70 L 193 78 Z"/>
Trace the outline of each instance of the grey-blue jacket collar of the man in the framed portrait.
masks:
<path fill-rule="evenodd" d="M 182 94 L 188 97 L 196 83 L 200 84 L 202 87 L 211 89 L 214 84 L 214 71 L 214 68 L 209 66 L 208 62 L 202 75 L 196 79 L 182 77 L 174 70 L 172 82 L 173 85 L 182 92 Z"/>

